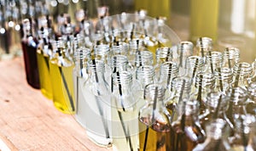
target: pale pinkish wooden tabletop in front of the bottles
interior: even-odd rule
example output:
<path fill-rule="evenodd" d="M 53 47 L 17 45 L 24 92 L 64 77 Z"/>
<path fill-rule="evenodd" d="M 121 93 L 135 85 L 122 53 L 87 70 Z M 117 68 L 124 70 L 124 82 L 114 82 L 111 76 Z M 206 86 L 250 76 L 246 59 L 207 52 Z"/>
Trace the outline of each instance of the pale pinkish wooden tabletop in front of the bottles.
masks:
<path fill-rule="evenodd" d="M 22 58 L 0 62 L 0 138 L 11 150 L 112 150 L 26 83 Z"/>

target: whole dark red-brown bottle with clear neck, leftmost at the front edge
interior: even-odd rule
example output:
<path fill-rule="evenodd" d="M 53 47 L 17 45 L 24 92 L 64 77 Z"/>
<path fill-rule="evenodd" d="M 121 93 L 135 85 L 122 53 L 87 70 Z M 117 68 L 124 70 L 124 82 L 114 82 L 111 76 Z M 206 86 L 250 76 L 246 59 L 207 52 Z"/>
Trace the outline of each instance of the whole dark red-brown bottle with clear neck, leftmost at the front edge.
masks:
<path fill-rule="evenodd" d="M 34 88 L 40 88 L 38 74 L 37 48 L 38 40 L 33 36 L 32 19 L 23 20 L 23 32 L 21 46 L 26 69 L 26 81 Z"/>

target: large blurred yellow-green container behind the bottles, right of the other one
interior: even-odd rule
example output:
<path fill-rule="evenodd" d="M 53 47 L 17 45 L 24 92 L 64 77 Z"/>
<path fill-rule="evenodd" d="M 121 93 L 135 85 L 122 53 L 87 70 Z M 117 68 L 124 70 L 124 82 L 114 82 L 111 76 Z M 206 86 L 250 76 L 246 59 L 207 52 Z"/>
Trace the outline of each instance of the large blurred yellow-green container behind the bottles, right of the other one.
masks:
<path fill-rule="evenodd" d="M 193 0 L 190 4 L 190 40 L 208 36 L 215 42 L 218 36 L 218 0 Z"/>

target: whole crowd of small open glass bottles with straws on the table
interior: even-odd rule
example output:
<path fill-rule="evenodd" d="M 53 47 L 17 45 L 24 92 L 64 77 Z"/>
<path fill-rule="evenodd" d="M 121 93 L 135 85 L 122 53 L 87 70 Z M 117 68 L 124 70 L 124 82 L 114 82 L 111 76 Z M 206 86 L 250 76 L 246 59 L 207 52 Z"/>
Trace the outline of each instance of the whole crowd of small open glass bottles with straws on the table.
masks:
<path fill-rule="evenodd" d="M 49 16 L 24 20 L 28 83 L 114 150 L 255 149 L 255 62 L 213 51 L 208 37 L 174 42 L 145 11 L 118 15 L 119 26 L 105 11 L 79 28 L 60 15 L 58 31 Z"/>

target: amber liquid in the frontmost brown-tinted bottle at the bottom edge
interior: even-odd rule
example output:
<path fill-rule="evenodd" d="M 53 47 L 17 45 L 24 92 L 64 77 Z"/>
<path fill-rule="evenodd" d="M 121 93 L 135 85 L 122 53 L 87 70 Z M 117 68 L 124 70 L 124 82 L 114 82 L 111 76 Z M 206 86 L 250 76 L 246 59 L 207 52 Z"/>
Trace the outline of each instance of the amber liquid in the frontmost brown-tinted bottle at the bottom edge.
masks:
<path fill-rule="evenodd" d="M 166 123 L 155 121 L 152 126 L 146 126 L 141 119 L 139 122 L 139 150 L 156 150 L 169 151 L 172 150 L 172 127 Z"/>

